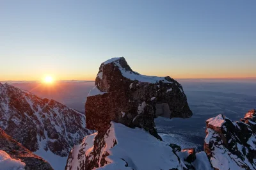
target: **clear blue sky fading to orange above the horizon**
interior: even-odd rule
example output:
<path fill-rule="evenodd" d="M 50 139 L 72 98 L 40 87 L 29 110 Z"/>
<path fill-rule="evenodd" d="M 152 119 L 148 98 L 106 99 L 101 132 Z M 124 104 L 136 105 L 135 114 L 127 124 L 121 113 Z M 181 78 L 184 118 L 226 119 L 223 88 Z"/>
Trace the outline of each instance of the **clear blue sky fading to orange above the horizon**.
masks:
<path fill-rule="evenodd" d="M 256 1 L 0 1 L 0 81 L 94 80 L 100 63 L 256 77 Z"/>

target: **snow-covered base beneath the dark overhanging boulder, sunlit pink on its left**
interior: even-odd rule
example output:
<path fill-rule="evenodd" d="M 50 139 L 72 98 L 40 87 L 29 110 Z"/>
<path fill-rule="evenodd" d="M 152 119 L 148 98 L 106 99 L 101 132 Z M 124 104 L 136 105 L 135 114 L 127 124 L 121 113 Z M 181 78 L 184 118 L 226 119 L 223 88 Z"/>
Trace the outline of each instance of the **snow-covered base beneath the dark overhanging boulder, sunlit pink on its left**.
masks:
<path fill-rule="evenodd" d="M 141 128 L 111 122 L 106 134 L 88 135 L 75 146 L 66 169 L 186 169 L 172 148 Z"/>

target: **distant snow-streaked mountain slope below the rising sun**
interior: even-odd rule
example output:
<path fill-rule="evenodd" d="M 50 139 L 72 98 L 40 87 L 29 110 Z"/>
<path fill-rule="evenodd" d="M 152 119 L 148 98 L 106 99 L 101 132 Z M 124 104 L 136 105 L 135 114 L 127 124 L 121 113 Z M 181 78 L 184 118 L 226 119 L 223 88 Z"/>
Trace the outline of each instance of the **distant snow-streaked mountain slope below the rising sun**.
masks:
<path fill-rule="evenodd" d="M 92 133 L 84 114 L 9 84 L 0 84 L 0 128 L 30 151 L 61 157 Z"/>

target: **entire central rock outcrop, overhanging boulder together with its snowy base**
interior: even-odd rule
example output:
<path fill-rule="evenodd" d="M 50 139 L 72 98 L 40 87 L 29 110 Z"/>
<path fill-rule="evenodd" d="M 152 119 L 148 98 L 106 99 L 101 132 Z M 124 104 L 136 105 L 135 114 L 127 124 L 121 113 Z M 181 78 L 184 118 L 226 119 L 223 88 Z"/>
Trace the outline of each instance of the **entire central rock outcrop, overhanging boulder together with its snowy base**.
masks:
<path fill-rule="evenodd" d="M 187 169 L 158 139 L 154 118 L 189 118 L 186 95 L 170 77 L 140 75 L 124 58 L 102 63 L 86 100 L 86 127 L 97 130 L 68 156 L 66 169 Z"/>

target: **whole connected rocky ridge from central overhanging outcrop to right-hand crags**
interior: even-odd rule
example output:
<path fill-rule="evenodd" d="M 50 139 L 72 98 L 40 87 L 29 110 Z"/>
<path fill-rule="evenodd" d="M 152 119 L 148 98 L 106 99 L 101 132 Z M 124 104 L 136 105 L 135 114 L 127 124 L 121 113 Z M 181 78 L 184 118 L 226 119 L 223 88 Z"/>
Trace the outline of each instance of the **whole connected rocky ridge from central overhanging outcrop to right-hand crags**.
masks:
<path fill-rule="evenodd" d="M 86 101 L 86 126 L 97 133 L 70 151 L 65 169 L 255 169 L 255 110 L 232 122 L 207 120 L 205 151 L 161 141 L 154 118 L 189 118 L 182 86 L 132 71 L 124 58 L 100 65 Z"/>

